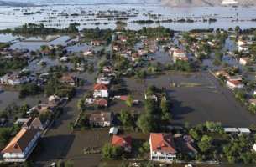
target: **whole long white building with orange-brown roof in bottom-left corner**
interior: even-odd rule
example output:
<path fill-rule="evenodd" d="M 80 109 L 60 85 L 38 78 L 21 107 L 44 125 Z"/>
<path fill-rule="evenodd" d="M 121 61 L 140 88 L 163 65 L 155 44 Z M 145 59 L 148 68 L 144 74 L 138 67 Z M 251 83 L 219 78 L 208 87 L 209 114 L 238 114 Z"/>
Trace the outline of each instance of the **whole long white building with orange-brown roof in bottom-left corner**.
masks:
<path fill-rule="evenodd" d="M 40 137 L 39 129 L 21 129 L 13 140 L 3 149 L 6 162 L 24 162 L 34 150 Z"/>

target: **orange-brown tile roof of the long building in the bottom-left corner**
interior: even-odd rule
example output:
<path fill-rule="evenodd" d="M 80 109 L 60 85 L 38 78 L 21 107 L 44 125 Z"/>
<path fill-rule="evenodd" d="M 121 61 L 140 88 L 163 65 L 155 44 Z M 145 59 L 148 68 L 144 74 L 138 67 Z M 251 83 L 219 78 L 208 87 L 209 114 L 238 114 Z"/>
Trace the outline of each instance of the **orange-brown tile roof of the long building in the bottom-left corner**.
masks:
<path fill-rule="evenodd" d="M 39 129 L 21 129 L 12 141 L 3 149 L 3 153 L 22 153 Z"/>

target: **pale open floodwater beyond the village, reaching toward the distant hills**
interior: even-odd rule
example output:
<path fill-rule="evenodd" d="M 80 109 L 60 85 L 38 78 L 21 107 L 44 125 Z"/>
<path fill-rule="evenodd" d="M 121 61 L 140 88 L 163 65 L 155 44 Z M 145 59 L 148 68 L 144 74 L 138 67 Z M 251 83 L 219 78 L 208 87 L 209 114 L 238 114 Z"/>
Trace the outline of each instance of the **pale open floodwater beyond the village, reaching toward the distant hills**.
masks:
<path fill-rule="evenodd" d="M 65 28 L 69 23 L 81 23 L 82 28 L 116 28 L 116 20 L 110 18 L 97 18 L 98 13 L 106 13 L 107 10 L 125 12 L 122 17 L 129 19 L 126 28 L 140 29 L 142 27 L 164 26 L 174 30 L 190 30 L 194 28 L 251 28 L 256 22 L 251 21 L 256 15 L 256 7 L 193 7 L 193 8 L 167 8 L 158 4 L 51 4 L 37 7 L 0 7 L 0 29 L 15 28 L 24 23 L 44 23 L 46 27 Z M 24 13 L 33 13 L 24 15 Z M 149 14 L 150 13 L 150 14 Z M 67 14 L 67 16 L 65 15 Z M 73 14 L 71 16 L 71 14 Z M 75 14 L 75 16 L 74 16 Z M 78 14 L 78 16 L 76 16 Z M 153 15 L 159 15 L 159 20 L 178 20 L 190 18 L 194 23 L 132 23 L 136 20 L 153 19 Z M 203 22 L 203 19 L 216 18 L 217 22 Z M 158 19 L 155 19 L 155 21 Z M 97 24 L 96 23 L 100 23 Z"/>

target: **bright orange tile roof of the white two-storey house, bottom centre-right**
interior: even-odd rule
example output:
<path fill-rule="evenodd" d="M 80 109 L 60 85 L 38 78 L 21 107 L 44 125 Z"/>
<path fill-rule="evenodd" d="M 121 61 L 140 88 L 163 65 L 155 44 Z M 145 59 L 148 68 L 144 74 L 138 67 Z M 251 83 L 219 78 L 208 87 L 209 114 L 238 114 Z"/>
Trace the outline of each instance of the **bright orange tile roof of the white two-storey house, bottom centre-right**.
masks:
<path fill-rule="evenodd" d="M 150 139 L 152 151 L 176 153 L 172 134 L 151 133 Z"/>

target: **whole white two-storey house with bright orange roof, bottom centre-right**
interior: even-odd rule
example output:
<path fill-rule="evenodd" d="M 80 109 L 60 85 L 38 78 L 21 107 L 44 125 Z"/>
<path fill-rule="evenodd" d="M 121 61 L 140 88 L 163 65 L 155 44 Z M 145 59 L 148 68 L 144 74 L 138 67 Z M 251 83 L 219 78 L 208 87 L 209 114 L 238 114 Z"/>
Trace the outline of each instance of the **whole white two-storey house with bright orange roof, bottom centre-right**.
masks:
<path fill-rule="evenodd" d="M 157 161 L 173 161 L 176 158 L 172 134 L 151 133 L 149 138 L 150 158 Z"/>

